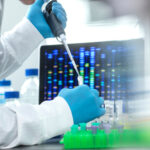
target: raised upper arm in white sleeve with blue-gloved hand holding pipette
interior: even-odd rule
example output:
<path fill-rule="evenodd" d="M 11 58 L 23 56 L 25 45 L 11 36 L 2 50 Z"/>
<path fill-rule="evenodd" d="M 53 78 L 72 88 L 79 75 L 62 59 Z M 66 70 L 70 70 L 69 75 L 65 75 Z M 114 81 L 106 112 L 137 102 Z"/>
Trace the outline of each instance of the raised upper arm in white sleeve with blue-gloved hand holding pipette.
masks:
<path fill-rule="evenodd" d="M 43 0 L 37 0 L 26 17 L 0 39 L 0 79 L 14 72 L 45 38 L 53 37 L 41 12 Z M 66 13 L 59 3 L 53 3 L 53 13 L 66 26 Z M 8 21 L 9 22 L 9 21 Z"/>

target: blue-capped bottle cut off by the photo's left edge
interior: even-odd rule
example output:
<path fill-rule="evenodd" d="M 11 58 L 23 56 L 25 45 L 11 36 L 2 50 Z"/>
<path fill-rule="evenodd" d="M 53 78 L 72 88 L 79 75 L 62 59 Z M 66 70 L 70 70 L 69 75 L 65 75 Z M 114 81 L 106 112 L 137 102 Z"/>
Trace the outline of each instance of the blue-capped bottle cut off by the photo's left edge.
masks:
<path fill-rule="evenodd" d="M 11 81 L 10 80 L 1 80 L 0 81 L 0 106 L 4 105 L 6 103 L 5 100 L 5 92 L 6 91 L 13 91 L 13 88 L 11 87 Z"/>

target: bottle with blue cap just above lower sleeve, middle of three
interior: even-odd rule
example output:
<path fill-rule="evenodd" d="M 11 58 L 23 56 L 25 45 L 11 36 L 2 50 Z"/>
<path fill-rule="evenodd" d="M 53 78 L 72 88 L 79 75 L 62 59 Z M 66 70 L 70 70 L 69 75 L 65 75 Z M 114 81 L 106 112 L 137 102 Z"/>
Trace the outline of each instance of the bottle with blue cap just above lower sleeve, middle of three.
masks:
<path fill-rule="evenodd" d="M 17 104 L 19 102 L 20 98 L 20 93 L 19 91 L 9 91 L 5 92 L 5 100 L 6 100 L 6 105 L 9 105 L 11 103 Z"/>

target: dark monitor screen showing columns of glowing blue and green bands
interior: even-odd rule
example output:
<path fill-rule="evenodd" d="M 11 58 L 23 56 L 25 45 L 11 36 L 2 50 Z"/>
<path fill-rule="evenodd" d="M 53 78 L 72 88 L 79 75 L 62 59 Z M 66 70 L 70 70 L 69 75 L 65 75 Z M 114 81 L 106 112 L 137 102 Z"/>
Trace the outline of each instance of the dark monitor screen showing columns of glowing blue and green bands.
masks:
<path fill-rule="evenodd" d="M 69 44 L 84 84 L 105 100 L 128 98 L 133 81 L 143 76 L 142 39 Z M 53 100 L 62 88 L 78 86 L 77 74 L 63 45 L 40 51 L 40 103 Z"/>

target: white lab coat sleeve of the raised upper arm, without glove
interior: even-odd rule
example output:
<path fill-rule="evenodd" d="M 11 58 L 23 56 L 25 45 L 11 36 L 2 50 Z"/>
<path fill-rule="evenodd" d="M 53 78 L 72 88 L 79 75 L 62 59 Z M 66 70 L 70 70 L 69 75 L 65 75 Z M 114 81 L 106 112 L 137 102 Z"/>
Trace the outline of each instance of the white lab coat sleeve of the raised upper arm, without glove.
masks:
<path fill-rule="evenodd" d="M 0 79 L 18 69 L 44 40 L 32 23 L 24 18 L 0 39 Z"/>

